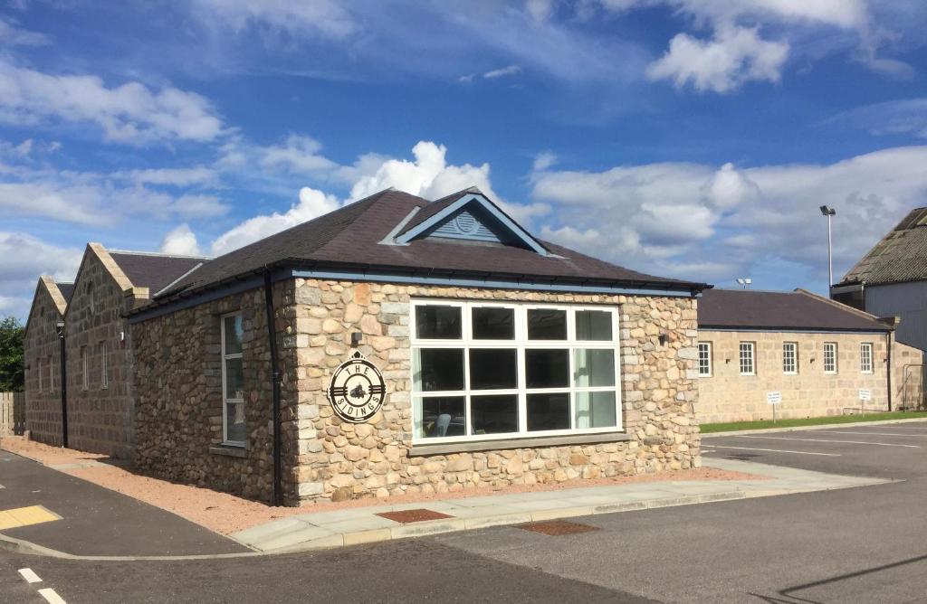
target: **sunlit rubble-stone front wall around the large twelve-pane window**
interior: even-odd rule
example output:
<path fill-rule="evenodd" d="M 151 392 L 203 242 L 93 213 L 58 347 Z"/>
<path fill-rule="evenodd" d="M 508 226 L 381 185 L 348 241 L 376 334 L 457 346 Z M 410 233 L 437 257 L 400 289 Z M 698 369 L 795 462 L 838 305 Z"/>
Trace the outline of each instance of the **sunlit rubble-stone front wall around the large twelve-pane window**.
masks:
<path fill-rule="evenodd" d="M 416 455 L 410 398 L 410 298 L 495 299 L 607 304 L 619 308 L 623 423 L 630 440 L 585 445 L 500 447 Z M 294 479 L 303 502 L 459 491 L 506 484 L 556 483 L 699 467 L 693 416 L 695 302 L 690 298 L 571 296 L 521 291 L 318 282 L 297 279 L 292 308 L 298 362 Z M 387 400 L 368 422 L 341 422 L 324 389 L 348 358 L 350 333 L 382 371 Z M 667 344 L 660 344 L 661 333 Z"/>

